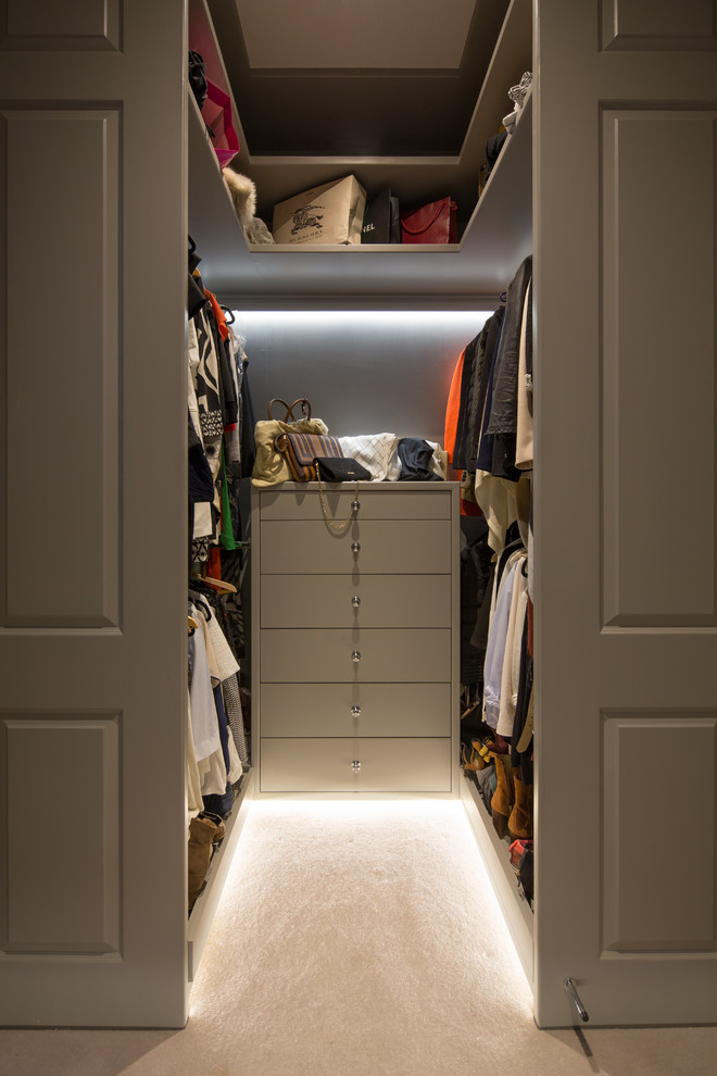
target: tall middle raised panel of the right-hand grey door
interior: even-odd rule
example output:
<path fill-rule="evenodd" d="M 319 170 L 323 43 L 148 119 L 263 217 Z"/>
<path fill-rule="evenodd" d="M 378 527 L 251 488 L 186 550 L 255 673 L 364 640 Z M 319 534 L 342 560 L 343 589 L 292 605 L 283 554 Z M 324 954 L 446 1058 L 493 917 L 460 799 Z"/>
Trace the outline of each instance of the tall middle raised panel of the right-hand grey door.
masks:
<path fill-rule="evenodd" d="M 714 627 L 717 112 L 601 136 L 603 625 Z"/>

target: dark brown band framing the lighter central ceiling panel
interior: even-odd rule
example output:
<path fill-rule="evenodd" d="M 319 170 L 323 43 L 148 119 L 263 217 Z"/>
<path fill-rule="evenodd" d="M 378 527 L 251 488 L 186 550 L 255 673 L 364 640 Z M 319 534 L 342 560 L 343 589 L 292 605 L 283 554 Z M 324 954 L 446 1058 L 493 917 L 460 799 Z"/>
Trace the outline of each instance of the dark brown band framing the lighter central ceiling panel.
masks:
<path fill-rule="evenodd" d="M 458 71 L 253 71 L 234 3 L 209 0 L 252 155 L 457 154 L 508 0 L 479 0 Z"/>

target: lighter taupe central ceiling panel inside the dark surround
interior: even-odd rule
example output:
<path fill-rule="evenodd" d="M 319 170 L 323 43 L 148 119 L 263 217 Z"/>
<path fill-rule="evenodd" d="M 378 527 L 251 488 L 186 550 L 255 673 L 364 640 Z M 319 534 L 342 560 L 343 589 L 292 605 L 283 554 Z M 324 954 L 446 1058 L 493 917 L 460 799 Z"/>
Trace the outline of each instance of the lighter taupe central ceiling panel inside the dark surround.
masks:
<path fill-rule="evenodd" d="M 456 68 L 476 0 L 236 0 L 253 68 Z"/>

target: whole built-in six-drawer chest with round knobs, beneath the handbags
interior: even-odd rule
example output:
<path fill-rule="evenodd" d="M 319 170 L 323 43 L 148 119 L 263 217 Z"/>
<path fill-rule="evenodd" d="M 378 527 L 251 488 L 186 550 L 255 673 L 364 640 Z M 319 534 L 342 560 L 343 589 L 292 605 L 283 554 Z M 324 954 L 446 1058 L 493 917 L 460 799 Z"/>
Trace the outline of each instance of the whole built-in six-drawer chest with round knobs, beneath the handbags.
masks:
<path fill-rule="evenodd" d="M 328 487 L 345 520 L 354 486 Z M 457 789 L 458 487 L 362 484 L 335 535 L 316 484 L 254 490 L 261 792 Z"/>

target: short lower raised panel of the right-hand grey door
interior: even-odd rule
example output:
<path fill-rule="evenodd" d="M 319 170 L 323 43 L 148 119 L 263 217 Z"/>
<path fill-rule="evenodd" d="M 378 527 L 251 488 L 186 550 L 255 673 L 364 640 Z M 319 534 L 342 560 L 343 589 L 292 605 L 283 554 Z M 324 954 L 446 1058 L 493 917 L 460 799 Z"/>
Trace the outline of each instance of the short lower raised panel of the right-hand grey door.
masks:
<path fill-rule="evenodd" d="M 602 720 L 603 953 L 712 953 L 717 713 Z"/>

